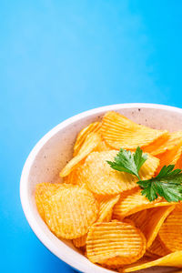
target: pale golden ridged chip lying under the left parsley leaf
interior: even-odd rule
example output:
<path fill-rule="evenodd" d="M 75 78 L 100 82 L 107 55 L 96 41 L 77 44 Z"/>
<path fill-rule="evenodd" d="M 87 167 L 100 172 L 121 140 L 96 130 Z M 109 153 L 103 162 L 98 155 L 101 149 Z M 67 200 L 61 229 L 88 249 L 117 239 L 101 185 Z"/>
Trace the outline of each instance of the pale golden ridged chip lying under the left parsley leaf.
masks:
<path fill-rule="evenodd" d="M 86 157 L 83 168 L 83 180 L 86 185 L 97 195 L 116 195 L 128 189 L 137 187 L 137 177 L 125 172 L 118 172 L 108 165 L 106 160 L 114 160 L 116 150 L 106 152 L 93 152 Z M 154 175 L 159 161 L 157 157 L 148 155 L 147 161 L 141 167 L 139 175 L 141 179 L 149 179 Z"/>

